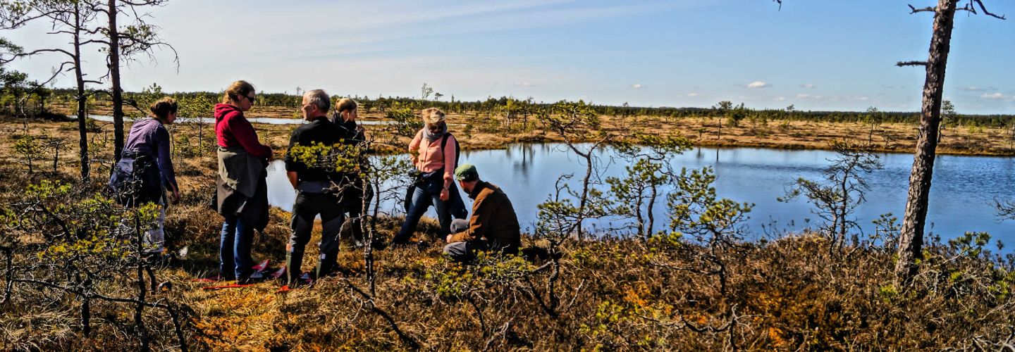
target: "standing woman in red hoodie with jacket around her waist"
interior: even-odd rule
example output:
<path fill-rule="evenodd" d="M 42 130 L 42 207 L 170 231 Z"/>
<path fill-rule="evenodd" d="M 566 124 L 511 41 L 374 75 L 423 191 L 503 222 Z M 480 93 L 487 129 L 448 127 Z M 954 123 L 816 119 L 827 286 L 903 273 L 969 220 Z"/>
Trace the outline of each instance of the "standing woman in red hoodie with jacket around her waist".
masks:
<path fill-rule="evenodd" d="M 261 144 L 244 112 L 251 110 L 257 95 L 254 86 L 235 81 L 215 104 L 215 137 L 218 140 L 218 181 L 216 204 L 222 214 L 220 279 L 246 282 L 259 279 L 253 269 L 251 245 L 254 230 L 264 230 L 268 218 L 265 168 L 271 147 Z"/>

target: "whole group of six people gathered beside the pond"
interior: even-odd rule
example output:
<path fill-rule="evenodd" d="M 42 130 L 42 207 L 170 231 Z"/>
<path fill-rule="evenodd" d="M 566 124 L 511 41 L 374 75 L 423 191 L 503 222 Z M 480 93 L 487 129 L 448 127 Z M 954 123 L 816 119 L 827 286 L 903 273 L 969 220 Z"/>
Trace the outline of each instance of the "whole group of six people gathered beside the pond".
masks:
<path fill-rule="evenodd" d="M 211 206 L 223 217 L 220 280 L 249 282 L 263 275 L 254 269 L 251 248 L 254 230 L 263 231 L 268 224 L 267 166 L 274 153 L 270 146 L 261 143 L 244 115 L 256 101 L 254 86 L 236 81 L 225 90 L 222 102 L 214 111 L 218 177 Z M 115 194 L 121 195 L 119 199 L 124 205 L 152 202 L 161 206 L 157 224 L 144 233 L 147 251 L 159 254 L 164 252 L 165 205 L 180 199 L 170 157 L 170 136 L 164 127 L 176 120 L 178 104 L 165 97 L 150 110 L 151 118 L 139 120 L 131 128 L 110 186 Z M 284 279 L 290 285 L 327 276 L 336 269 L 343 228 L 348 228 L 354 245 L 373 245 L 363 243 L 359 225 L 364 199 L 369 202 L 373 194 L 369 183 L 357 171 L 308 163 L 292 153 L 298 146 L 361 147 L 365 138 L 363 128 L 356 124 L 356 101 L 342 98 L 332 109 L 331 96 L 315 89 L 303 94 L 300 112 L 304 123 L 292 132 L 284 159 L 286 175 L 296 193 L 285 253 Z M 331 117 L 330 112 L 333 112 Z M 474 165 L 459 164 L 460 146 L 448 131 L 444 112 L 429 108 L 421 112 L 421 117 L 424 127 L 408 146 L 416 172 L 406 193 L 405 220 L 390 244 L 409 244 L 419 219 L 433 206 L 441 225 L 438 238 L 447 242 L 444 253 L 453 260 L 469 262 L 478 251 L 517 253 L 521 247 L 521 227 L 511 200 L 499 188 L 480 180 Z M 140 187 L 124 192 L 128 185 Z M 471 215 L 459 187 L 472 199 Z M 122 196 L 125 193 L 130 197 Z M 318 265 L 310 275 L 301 275 L 303 254 L 318 216 L 322 223 Z"/>

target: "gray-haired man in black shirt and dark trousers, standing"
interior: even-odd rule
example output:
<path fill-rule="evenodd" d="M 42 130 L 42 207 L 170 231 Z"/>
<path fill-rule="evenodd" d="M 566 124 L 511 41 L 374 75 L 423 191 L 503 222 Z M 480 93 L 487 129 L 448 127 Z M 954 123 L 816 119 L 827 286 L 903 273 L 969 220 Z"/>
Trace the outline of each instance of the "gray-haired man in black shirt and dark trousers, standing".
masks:
<path fill-rule="evenodd" d="M 289 138 L 289 149 L 285 153 L 285 170 L 289 183 L 296 191 L 296 201 L 292 205 L 292 233 L 285 248 L 286 279 L 289 285 L 307 283 L 301 278 L 300 265 L 303 250 L 311 239 L 314 219 L 321 215 L 321 258 L 313 277 L 323 277 L 336 266 L 338 256 L 338 232 L 345 221 L 340 202 L 338 185 L 342 173 L 335 171 L 334 165 L 320 164 L 318 160 L 303 159 L 318 152 L 293 152 L 293 149 L 323 145 L 332 147 L 342 143 L 343 132 L 338 125 L 328 120 L 331 97 L 321 89 L 303 94 L 300 111 L 309 123 L 297 127 Z M 338 187 L 336 187 L 338 186 Z"/>

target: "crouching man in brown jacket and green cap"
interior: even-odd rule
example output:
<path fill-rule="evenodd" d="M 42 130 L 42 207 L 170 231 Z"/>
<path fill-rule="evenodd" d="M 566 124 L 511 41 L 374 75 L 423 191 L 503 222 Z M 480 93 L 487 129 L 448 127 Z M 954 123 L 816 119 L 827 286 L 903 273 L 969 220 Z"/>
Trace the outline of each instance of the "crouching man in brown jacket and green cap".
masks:
<path fill-rule="evenodd" d="M 458 262 L 472 261 L 477 251 L 517 254 L 522 247 L 521 227 L 507 195 L 479 180 L 472 164 L 455 168 L 455 180 L 472 199 L 472 216 L 468 221 L 452 221 L 444 253 Z"/>

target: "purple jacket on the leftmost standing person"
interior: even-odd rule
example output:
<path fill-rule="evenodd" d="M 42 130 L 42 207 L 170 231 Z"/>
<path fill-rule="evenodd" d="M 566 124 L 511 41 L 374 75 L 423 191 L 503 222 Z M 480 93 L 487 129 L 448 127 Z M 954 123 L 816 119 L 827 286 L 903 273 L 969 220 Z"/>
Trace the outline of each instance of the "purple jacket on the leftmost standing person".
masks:
<path fill-rule="evenodd" d="M 130 128 L 130 136 L 127 137 L 127 144 L 124 150 L 134 150 L 151 156 L 158 164 L 158 173 L 161 174 L 162 185 L 168 189 L 179 190 L 177 178 L 173 170 L 173 159 L 170 158 L 170 132 L 162 127 L 162 123 L 155 119 L 141 119 L 134 122 Z"/>

